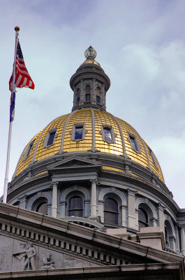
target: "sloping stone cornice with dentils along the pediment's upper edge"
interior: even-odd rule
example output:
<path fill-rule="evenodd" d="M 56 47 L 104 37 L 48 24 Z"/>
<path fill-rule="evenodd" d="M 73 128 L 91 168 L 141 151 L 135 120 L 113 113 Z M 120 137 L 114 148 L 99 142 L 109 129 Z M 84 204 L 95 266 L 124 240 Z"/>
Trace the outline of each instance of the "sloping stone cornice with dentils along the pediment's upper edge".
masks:
<path fill-rule="evenodd" d="M 106 251 L 107 254 L 113 254 L 117 258 L 119 256 L 120 259 L 131 258 L 134 261 L 137 256 L 141 262 L 147 259 L 147 262 L 181 262 L 184 265 L 184 258 L 182 256 L 166 253 L 165 251 L 160 251 L 159 253 L 154 248 L 142 246 L 133 241 L 61 221 L 50 216 L 44 216 L 34 211 L 13 207 L 8 204 L 0 203 L 0 217 L 1 234 L 7 232 L 9 237 L 14 235 L 16 238 L 20 236 L 27 241 L 30 239 L 36 245 L 43 244 L 44 242 L 46 246 L 50 246 L 50 248 L 53 246 L 56 250 L 59 246 L 63 250 L 72 250 L 72 245 L 74 244 L 76 247 L 74 247 L 74 251 L 72 250 L 72 252 L 74 253 L 76 251 L 75 253 L 77 253 L 77 246 L 82 246 L 82 243 L 74 243 L 73 239 L 76 239 L 78 242 L 86 244 L 86 248 L 90 251 L 100 250 L 102 252 L 103 250 L 105 255 Z M 20 228 L 21 231 L 16 228 Z M 69 242 L 71 242 L 71 246 Z M 83 250 L 81 251 L 80 248 L 78 252 L 83 255 Z M 88 253 L 87 255 L 94 258 L 94 253 Z M 99 255 L 99 257 L 97 255 L 96 260 L 107 262 L 109 265 L 111 264 L 110 258 L 105 258 L 103 255 Z M 116 263 L 114 264 L 116 265 Z"/>

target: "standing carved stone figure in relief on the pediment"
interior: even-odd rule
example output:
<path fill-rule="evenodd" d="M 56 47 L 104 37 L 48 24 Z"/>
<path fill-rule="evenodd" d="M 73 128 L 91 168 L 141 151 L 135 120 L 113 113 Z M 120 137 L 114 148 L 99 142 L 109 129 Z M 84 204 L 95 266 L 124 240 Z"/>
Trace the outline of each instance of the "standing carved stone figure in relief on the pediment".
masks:
<path fill-rule="evenodd" d="M 34 248 L 32 242 L 27 242 L 27 244 L 20 244 L 20 251 L 17 253 L 13 253 L 13 255 L 21 261 L 22 270 L 36 269 L 36 249 Z"/>

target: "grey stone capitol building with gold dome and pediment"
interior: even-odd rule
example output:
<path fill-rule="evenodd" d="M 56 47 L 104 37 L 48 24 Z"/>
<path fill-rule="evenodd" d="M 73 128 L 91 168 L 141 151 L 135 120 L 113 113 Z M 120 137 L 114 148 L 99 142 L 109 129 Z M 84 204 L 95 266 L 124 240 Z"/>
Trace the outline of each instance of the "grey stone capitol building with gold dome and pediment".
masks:
<path fill-rule="evenodd" d="M 96 50 L 84 55 L 71 113 L 29 141 L 0 202 L 0 279 L 185 279 L 185 210 L 152 147 L 106 111 Z"/>

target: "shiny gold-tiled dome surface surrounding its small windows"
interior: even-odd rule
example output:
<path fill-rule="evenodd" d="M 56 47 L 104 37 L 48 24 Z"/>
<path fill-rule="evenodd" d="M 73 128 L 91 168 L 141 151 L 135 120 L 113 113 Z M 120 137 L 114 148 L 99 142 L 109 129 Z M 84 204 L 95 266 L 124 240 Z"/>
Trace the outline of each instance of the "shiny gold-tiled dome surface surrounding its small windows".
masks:
<path fill-rule="evenodd" d="M 73 127 L 83 124 L 85 127 L 84 137 L 80 141 L 73 139 Z M 103 141 L 102 127 L 112 127 L 114 141 Z M 54 142 L 45 146 L 45 139 L 50 132 L 56 132 Z M 129 139 L 130 137 L 130 139 Z M 131 137 L 138 143 L 138 151 L 131 146 Z M 28 153 L 29 150 L 29 153 Z M 163 181 L 163 174 L 154 153 L 140 137 L 131 125 L 124 120 L 112 116 L 106 111 L 98 109 L 82 109 L 73 111 L 53 120 L 43 130 L 38 132 L 24 148 L 15 170 L 15 176 L 20 174 L 34 162 L 45 160 L 59 153 L 79 153 L 96 151 L 111 155 L 124 155 L 133 162 L 150 169 Z M 164 181 L 163 181 L 164 182 Z"/>

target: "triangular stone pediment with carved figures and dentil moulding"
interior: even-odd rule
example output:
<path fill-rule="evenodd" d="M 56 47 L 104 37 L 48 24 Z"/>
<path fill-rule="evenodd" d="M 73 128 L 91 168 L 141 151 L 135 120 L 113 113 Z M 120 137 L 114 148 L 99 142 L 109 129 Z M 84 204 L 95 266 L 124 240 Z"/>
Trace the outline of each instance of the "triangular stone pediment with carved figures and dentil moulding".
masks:
<path fill-rule="evenodd" d="M 182 262 L 165 251 L 3 203 L 0 217 L 0 272 Z"/>

